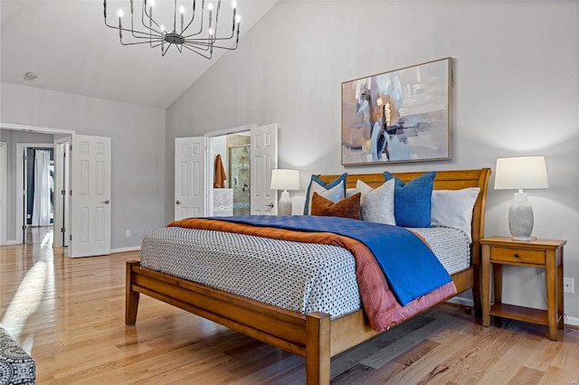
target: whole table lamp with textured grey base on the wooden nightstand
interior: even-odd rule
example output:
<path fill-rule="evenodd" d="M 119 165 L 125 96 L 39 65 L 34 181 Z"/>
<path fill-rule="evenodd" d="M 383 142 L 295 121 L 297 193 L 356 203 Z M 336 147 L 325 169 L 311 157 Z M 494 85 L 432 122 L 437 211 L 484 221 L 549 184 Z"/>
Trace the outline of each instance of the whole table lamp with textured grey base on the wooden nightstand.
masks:
<path fill-rule="evenodd" d="M 520 156 L 497 159 L 495 190 L 518 190 L 508 209 L 508 230 L 514 240 L 531 240 L 533 207 L 523 189 L 546 189 L 545 156 Z"/>

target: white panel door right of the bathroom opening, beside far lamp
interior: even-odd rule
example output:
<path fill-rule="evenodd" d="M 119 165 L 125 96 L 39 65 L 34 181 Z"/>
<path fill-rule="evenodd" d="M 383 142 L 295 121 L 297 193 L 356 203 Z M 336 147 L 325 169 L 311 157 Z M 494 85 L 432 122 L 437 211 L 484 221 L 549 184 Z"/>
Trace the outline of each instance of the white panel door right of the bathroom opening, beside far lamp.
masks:
<path fill-rule="evenodd" d="M 278 124 L 252 128 L 252 215 L 278 212 L 276 191 L 270 189 L 271 170 L 278 168 Z"/>

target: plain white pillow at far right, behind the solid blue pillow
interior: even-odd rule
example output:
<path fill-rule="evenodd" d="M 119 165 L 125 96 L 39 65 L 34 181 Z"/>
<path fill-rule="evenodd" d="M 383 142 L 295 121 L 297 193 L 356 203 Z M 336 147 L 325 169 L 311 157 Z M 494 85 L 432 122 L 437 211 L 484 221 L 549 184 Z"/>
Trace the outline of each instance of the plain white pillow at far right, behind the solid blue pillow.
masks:
<path fill-rule="evenodd" d="M 433 190 L 431 198 L 432 226 L 462 230 L 470 236 L 472 208 L 479 197 L 479 187 L 462 190 Z"/>

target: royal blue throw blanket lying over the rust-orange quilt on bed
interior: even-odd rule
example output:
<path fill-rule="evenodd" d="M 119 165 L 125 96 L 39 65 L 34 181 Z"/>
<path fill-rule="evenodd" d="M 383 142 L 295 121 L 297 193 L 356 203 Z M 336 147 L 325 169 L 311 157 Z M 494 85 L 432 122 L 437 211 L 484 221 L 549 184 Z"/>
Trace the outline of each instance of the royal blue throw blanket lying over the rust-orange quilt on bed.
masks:
<path fill-rule="evenodd" d="M 214 217 L 285 230 L 333 232 L 359 240 L 370 249 L 401 305 L 451 282 L 432 250 L 412 231 L 381 223 L 312 215 Z"/>

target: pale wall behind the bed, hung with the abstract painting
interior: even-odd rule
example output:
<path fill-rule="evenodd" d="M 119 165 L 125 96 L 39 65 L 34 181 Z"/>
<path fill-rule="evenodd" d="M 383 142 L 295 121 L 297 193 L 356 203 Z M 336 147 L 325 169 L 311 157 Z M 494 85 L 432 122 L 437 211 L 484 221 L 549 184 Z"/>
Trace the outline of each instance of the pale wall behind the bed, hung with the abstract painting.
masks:
<path fill-rule="evenodd" d="M 529 192 L 534 234 L 568 239 L 565 276 L 579 293 L 578 25 L 577 2 L 279 2 L 167 108 L 166 221 L 176 136 L 277 122 L 280 167 L 299 168 L 302 187 L 309 174 L 494 169 L 498 157 L 546 155 L 550 188 Z M 341 83 L 449 56 L 452 160 L 343 167 Z M 486 234 L 508 235 L 512 192 L 493 183 Z M 541 278 L 508 269 L 505 302 L 545 306 Z M 575 324 L 578 298 L 565 295 Z"/>

